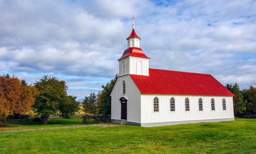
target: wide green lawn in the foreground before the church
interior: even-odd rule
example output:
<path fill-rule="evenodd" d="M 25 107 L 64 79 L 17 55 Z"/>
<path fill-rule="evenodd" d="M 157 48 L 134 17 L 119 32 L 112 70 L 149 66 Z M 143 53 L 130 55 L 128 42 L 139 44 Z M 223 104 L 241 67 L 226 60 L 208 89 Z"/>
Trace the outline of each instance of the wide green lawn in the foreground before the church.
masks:
<path fill-rule="evenodd" d="M 0 133 L 0 145 L 1 153 L 256 153 L 256 118 Z"/>

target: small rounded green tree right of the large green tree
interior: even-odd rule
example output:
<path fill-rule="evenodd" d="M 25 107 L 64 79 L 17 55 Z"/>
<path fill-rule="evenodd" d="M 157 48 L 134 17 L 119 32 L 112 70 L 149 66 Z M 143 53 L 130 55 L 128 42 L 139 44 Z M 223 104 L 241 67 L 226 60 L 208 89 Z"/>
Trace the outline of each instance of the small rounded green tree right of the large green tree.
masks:
<path fill-rule="evenodd" d="M 76 101 L 77 97 L 66 96 L 64 101 L 59 104 L 59 110 L 65 118 L 71 118 L 75 112 L 78 112 L 80 102 Z"/>

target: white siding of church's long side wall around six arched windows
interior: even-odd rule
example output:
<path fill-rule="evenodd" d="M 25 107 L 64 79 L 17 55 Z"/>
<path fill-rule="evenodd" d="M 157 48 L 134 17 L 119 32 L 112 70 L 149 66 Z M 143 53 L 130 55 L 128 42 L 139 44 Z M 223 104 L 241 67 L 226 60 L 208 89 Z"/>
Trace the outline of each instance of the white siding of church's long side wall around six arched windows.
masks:
<path fill-rule="evenodd" d="M 159 98 L 159 112 L 153 110 L 153 99 Z M 175 112 L 170 112 L 170 99 L 175 99 Z M 185 111 L 185 98 L 189 98 L 189 112 Z M 198 99 L 202 98 L 203 111 L 199 111 Z M 215 100 L 215 111 L 211 111 L 211 99 Z M 226 110 L 222 99 L 226 99 Z M 141 94 L 141 123 L 175 122 L 203 119 L 233 118 L 233 98 L 221 96 L 157 95 Z"/>

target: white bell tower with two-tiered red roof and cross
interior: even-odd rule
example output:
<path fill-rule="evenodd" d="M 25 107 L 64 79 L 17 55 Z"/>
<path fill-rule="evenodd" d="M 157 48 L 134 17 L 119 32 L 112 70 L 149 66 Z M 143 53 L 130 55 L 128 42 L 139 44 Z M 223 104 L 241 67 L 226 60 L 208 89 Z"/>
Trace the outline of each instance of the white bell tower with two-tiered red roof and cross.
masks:
<path fill-rule="evenodd" d="M 140 48 L 141 38 L 135 32 L 134 27 L 131 35 L 126 39 L 128 41 L 128 48 L 123 52 L 119 62 L 119 76 L 133 74 L 133 75 L 147 75 L 148 76 L 148 62 L 149 59 Z"/>

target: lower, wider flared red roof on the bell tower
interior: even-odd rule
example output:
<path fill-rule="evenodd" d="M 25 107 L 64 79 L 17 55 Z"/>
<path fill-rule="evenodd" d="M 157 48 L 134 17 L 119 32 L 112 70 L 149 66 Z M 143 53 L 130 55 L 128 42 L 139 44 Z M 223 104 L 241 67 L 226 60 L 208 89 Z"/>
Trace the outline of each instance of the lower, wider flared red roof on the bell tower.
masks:
<path fill-rule="evenodd" d="M 127 56 L 134 56 L 134 57 L 141 57 L 141 58 L 148 58 L 143 50 L 139 47 L 128 47 L 124 52 L 122 57 L 120 57 L 118 60 L 127 57 Z M 150 59 L 150 58 L 148 58 Z"/>

